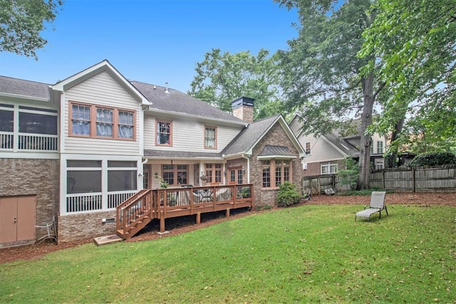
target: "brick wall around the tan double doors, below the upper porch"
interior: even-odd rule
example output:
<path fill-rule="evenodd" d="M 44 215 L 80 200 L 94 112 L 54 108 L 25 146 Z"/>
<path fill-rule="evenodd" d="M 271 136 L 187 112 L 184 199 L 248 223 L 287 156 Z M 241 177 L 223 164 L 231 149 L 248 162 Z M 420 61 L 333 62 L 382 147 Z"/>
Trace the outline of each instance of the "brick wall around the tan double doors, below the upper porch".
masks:
<path fill-rule="evenodd" d="M 0 196 L 36 195 L 36 224 L 47 223 L 57 219 L 59 176 L 58 159 L 1 158 Z"/>

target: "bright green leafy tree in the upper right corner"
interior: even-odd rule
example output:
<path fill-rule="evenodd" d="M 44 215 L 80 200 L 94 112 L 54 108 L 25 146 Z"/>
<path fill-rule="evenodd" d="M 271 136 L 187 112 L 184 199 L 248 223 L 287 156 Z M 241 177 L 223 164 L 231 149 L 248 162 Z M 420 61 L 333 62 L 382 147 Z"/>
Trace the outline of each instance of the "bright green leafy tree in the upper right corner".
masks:
<path fill-rule="evenodd" d="M 388 131 L 388 121 L 405 110 L 410 137 L 428 144 L 421 151 L 454 148 L 456 1 L 378 0 L 373 9 L 378 14 L 359 56 L 371 58 L 366 73 L 378 70 L 391 84 L 376 130 Z"/>

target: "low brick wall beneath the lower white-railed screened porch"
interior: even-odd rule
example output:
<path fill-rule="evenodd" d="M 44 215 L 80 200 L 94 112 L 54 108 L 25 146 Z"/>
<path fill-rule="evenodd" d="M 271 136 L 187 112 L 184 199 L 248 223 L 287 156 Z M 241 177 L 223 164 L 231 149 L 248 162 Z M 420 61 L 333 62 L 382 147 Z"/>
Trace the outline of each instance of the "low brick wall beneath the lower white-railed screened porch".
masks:
<path fill-rule="evenodd" d="M 114 219 L 114 221 L 103 223 L 103 219 Z M 58 224 L 59 243 L 115 234 L 115 210 L 59 216 Z"/>

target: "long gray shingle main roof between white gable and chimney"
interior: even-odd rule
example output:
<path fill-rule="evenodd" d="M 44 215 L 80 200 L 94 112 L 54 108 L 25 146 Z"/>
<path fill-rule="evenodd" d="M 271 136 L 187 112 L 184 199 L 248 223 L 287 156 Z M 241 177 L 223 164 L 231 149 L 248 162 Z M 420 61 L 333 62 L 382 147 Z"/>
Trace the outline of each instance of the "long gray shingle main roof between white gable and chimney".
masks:
<path fill-rule="evenodd" d="M 150 85 L 138 81 L 130 81 L 130 83 L 152 103 L 151 109 L 215 118 L 217 120 L 243 122 L 219 108 L 215 108 L 178 90 L 168 88 L 169 93 L 165 93 L 166 88 L 158 85 Z"/>

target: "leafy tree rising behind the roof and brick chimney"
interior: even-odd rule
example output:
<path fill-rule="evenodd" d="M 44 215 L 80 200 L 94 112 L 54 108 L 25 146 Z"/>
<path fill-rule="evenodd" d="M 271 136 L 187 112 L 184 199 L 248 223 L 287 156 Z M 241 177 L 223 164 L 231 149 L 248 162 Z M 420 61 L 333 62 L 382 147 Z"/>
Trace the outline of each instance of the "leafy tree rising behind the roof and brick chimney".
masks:
<path fill-rule="evenodd" d="M 189 94 L 206 103 L 230 112 L 231 102 L 246 96 L 255 99 L 255 119 L 281 112 L 279 66 L 269 51 L 261 49 L 253 56 L 249 51 L 231 54 L 214 48 L 195 70 Z"/>

